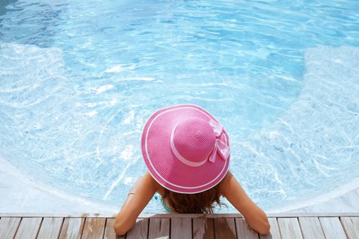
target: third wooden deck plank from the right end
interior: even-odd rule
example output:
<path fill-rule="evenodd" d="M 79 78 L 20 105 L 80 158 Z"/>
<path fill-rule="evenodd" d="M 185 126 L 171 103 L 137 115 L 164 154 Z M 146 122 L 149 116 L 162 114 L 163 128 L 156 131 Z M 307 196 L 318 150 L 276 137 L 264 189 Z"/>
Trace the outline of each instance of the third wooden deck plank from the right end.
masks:
<path fill-rule="evenodd" d="M 317 217 L 300 217 L 299 221 L 304 239 L 325 239 Z"/>

